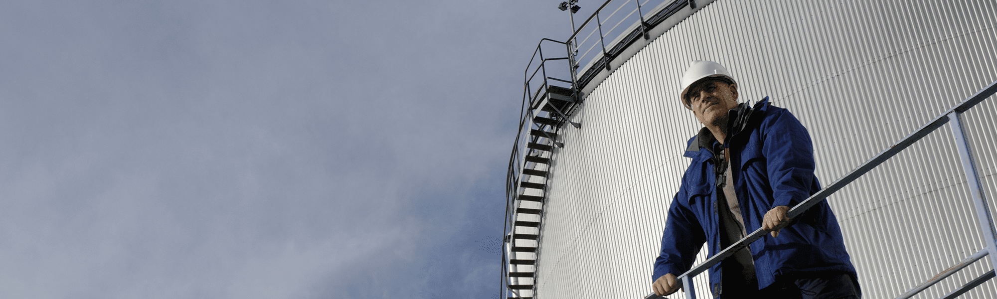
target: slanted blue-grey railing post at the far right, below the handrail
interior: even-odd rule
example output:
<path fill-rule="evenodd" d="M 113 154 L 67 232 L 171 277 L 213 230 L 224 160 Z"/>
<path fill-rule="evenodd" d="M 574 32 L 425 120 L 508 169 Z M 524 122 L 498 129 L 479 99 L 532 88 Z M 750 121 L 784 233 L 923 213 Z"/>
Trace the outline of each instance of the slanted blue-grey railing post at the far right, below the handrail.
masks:
<path fill-rule="evenodd" d="M 983 185 L 976 170 L 976 161 L 973 159 L 972 149 L 970 149 L 969 141 L 966 139 L 962 113 L 953 111 L 948 114 L 948 119 L 949 124 L 952 125 L 955 146 L 959 149 L 959 158 L 962 159 L 962 169 L 966 173 L 966 184 L 969 186 L 970 195 L 973 196 L 973 203 L 976 204 L 976 217 L 980 222 L 980 230 L 983 232 L 983 241 L 986 242 L 987 251 L 990 252 L 990 266 L 997 269 L 997 243 L 994 242 L 997 239 L 997 228 L 994 227 L 990 205 L 987 204 Z"/>

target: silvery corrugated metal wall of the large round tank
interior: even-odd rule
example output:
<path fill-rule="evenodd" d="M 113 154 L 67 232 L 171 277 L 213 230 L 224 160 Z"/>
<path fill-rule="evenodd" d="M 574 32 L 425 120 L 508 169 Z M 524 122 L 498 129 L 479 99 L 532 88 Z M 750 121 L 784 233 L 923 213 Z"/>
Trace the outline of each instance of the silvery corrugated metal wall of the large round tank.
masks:
<path fill-rule="evenodd" d="M 997 80 L 997 4 L 717 0 L 613 70 L 560 130 L 537 298 L 641 298 L 701 127 L 678 104 L 692 60 L 727 66 L 741 101 L 771 96 L 810 130 L 824 185 Z M 965 115 L 986 194 L 997 188 L 997 100 Z M 946 125 L 947 126 L 947 125 Z M 865 298 L 893 298 L 983 248 L 951 131 L 829 198 Z M 992 207 L 994 208 L 994 207 Z M 990 257 L 915 298 L 988 271 Z M 700 261 L 702 261 L 702 255 Z M 697 277 L 700 298 L 712 298 Z M 962 298 L 995 298 L 989 281 Z"/>

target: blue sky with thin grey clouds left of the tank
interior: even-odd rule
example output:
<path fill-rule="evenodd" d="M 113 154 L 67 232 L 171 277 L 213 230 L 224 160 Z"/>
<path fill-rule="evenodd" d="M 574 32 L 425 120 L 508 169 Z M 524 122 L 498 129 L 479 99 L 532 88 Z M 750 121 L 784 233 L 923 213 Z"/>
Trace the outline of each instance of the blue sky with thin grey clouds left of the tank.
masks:
<path fill-rule="evenodd" d="M 495 298 L 557 3 L 0 2 L 0 297 Z"/>

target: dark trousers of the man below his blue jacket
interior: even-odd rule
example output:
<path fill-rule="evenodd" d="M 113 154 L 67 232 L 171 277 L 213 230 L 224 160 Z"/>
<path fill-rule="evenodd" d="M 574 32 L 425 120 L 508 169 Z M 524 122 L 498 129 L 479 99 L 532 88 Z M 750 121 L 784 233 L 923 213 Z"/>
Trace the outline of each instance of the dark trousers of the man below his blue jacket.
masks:
<path fill-rule="evenodd" d="M 726 282 L 726 281 L 725 281 Z M 723 298 L 786 298 L 786 299 L 858 299 L 861 292 L 851 275 L 835 273 L 827 276 L 781 279 L 757 291 L 727 285 Z"/>

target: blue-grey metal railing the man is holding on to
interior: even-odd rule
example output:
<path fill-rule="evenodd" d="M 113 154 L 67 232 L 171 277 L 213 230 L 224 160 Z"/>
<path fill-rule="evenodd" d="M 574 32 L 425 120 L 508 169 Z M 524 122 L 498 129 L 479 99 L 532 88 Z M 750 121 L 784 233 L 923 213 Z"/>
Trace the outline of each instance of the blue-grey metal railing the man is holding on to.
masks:
<path fill-rule="evenodd" d="M 821 189 L 820 191 L 810 196 L 803 202 L 800 202 L 800 204 L 797 204 L 796 206 L 791 208 L 790 211 L 787 212 L 787 216 L 790 218 L 796 218 L 800 214 L 803 214 L 804 211 L 806 211 L 808 208 L 818 204 L 819 202 L 821 202 L 821 200 L 824 200 L 832 193 L 836 192 L 837 190 L 844 187 L 848 183 L 854 181 L 859 176 L 865 174 L 872 168 L 883 163 L 884 161 L 886 161 L 893 155 L 897 154 L 901 150 L 907 149 L 907 147 L 910 147 L 914 143 L 920 141 L 928 134 L 934 132 L 938 128 L 941 128 L 942 125 L 945 125 L 946 123 L 951 123 L 952 134 L 955 138 L 956 146 L 959 150 L 959 157 L 962 160 L 963 171 L 965 171 L 967 178 L 966 182 L 969 185 L 973 202 L 976 205 L 977 219 L 979 220 L 980 229 L 983 232 L 983 238 L 984 242 L 986 242 L 986 248 L 967 257 L 966 259 L 960 261 L 956 265 L 948 269 L 945 269 L 944 271 L 942 271 L 938 275 L 935 275 L 928 281 L 925 281 L 924 283 L 918 285 L 917 287 L 914 287 L 908 292 L 898 296 L 897 299 L 910 298 L 915 294 L 923 291 L 924 289 L 927 289 L 929 286 L 941 281 L 942 279 L 952 275 L 953 273 L 961 270 L 962 268 L 965 268 L 969 264 L 983 258 L 987 254 L 993 254 L 993 256 L 997 256 L 997 243 L 995 243 L 995 240 L 997 240 L 997 227 L 994 227 L 994 221 L 993 217 L 991 216 L 990 207 L 987 204 L 986 196 L 984 195 L 983 187 L 979 180 L 979 175 L 976 170 L 976 162 L 973 158 L 972 149 L 970 149 L 969 147 L 969 142 L 966 139 L 965 129 L 963 128 L 964 126 L 961 118 L 962 113 L 973 108 L 980 102 L 983 102 L 983 100 L 987 99 L 988 97 L 993 96 L 994 93 L 997 93 L 997 82 L 991 83 L 987 87 L 977 92 L 975 95 L 962 101 L 962 103 L 959 103 L 952 109 L 949 109 L 944 114 L 941 114 L 927 125 L 924 125 L 920 129 L 918 129 L 914 133 L 911 133 L 910 135 L 900 140 L 899 142 L 889 147 L 888 149 L 879 152 L 869 160 L 865 161 L 855 169 L 851 170 L 851 172 L 848 172 L 847 174 L 844 174 L 844 176 L 841 176 L 834 182 L 831 182 L 831 184 L 825 187 L 824 189 Z M 693 266 L 691 269 L 689 269 L 689 271 L 686 271 L 685 273 L 682 273 L 682 275 L 676 277 L 676 279 L 682 286 L 683 291 L 685 292 L 686 298 L 689 299 L 696 298 L 696 291 L 694 290 L 692 282 L 693 277 L 702 273 L 703 271 L 706 271 L 707 269 L 721 262 L 722 260 L 730 257 L 731 255 L 734 254 L 734 252 L 737 252 L 738 250 L 747 247 L 749 244 L 751 244 L 755 240 L 758 240 L 766 233 L 768 232 L 762 228 L 759 228 L 754 232 L 752 232 L 751 234 L 749 234 L 748 236 L 732 244 L 731 246 L 724 248 L 724 250 L 720 251 L 720 253 L 718 253 L 717 255 L 710 257 L 709 259 L 707 259 L 703 263 L 700 263 L 699 265 Z M 997 258 L 991 258 L 991 267 L 997 269 Z M 994 277 L 994 270 L 990 270 L 990 272 L 984 273 L 983 275 L 964 284 L 958 289 L 953 290 L 951 293 L 949 293 L 943 298 L 954 298 L 955 296 L 965 293 L 969 289 L 972 289 L 993 277 Z M 664 297 L 657 296 L 654 293 L 651 293 L 645 296 L 644 298 L 653 299 L 653 298 L 664 298 Z"/>

